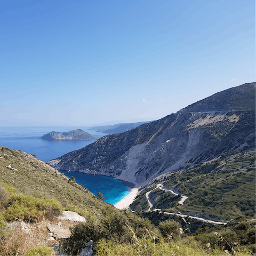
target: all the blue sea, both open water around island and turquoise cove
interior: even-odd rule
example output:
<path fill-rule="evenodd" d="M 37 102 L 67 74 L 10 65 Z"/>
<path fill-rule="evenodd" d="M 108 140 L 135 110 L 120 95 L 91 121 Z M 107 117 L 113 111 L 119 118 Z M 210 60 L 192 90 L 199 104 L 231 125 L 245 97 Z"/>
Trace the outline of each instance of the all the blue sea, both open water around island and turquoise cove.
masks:
<path fill-rule="evenodd" d="M 71 130 L 82 129 L 89 132 L 95 138 L 101 138 L 106 133 L 89 130 L 90 127 L 63 127 L 63 126 L 0 126 L 0 146 L 24 151 L 28 154 L 36 155 L 37 159 L 44 162 L 58 158 L 73 150 L 86 147 L 95 140 L 65 140 L 65 141 L 47 141 L 40 140 L 42 135 L 55 132 L 68 132 Z M 90 175 L 79 172 L 65 172 L 70 178 L 73 176 L 76 182 L 84 185 L 94 195 L 101 192 L 104 201 L 109 204 L 116 204 L 125 196 L 129 195 L 131 188 L 122 183 L 122 181 L 102 175 Z"/>

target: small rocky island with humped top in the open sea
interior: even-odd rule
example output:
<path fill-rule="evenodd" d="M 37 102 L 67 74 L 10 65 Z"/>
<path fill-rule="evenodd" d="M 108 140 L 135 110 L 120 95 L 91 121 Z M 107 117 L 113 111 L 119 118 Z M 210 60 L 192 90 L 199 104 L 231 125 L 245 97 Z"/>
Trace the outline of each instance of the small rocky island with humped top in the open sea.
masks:
<path fill-rule="evenodd" d="M 41 140 L 98 140 L 93 137 L 89 132 L 85 132 L 81 129 L 72 130 L 69 132 L 49 132 L 44 134 Z"/>

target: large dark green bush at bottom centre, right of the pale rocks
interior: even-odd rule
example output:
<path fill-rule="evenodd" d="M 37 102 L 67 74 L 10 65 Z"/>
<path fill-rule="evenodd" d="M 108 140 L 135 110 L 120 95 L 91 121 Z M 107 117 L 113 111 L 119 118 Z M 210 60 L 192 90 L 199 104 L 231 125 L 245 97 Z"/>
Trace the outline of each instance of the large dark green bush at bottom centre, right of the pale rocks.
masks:
<path fill-rule="evenodd" d="M 70 238 L 62 242 L 68 255 L 77 255 L 84 243 L 90 240 L 93 240 L 96 246 L 102 239 L 113 240 L 116 244 L 131 243 L 133 233 L 134 236 L 145 239 L 155 236 L 156 241 L 157 237 L 161 236 L 149 220 L 142 219 L 131 211 L 120 211 L 109 206 L 102 213 L 103 217 L 100 220 L 86 217 L 85 223 L 71 229 Z"/>

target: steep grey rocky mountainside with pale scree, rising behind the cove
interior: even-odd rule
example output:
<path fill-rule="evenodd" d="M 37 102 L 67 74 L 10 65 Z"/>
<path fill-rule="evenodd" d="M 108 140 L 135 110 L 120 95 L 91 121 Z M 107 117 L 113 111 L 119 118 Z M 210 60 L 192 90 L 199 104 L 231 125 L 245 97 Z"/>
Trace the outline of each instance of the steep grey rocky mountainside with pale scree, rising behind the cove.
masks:
<path fill-rule="evenodd" d="M 49 163 L 140 186 L 165 172 L 255 147 L 255 83 L 198 101 L 176 114 L 111 134 Z"/>

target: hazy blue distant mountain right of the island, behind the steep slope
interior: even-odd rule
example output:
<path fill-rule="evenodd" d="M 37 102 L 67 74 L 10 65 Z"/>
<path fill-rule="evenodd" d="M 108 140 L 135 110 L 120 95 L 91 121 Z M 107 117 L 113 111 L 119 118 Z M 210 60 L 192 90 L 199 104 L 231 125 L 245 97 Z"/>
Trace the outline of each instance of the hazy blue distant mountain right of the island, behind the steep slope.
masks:
<path fill-rule="evenodd" d="M 108 134 L 116 134 L 116 133 L 121 133 L 121 132 L 126 132 L 129 130 L 132 130 L 141 124 L 147 124 L 149 122 L 138 122 L 138 123 L 121 123 L 121 124 L 113 124 L 113 125 L 102 125 L 102 126 L 94 126 L 91 127 L 90 130 L 94 130 L 97 132 L 103 132 L 103 133 L 108 133 Z"/>

